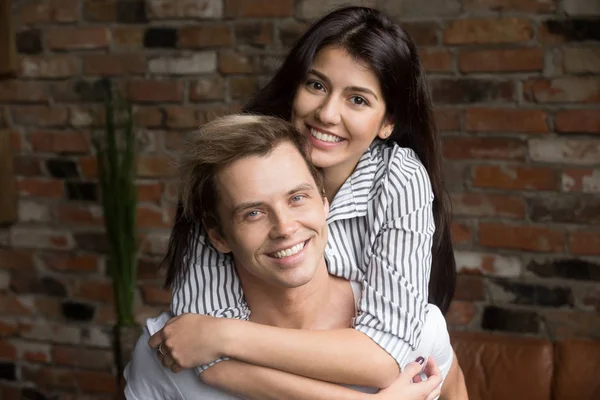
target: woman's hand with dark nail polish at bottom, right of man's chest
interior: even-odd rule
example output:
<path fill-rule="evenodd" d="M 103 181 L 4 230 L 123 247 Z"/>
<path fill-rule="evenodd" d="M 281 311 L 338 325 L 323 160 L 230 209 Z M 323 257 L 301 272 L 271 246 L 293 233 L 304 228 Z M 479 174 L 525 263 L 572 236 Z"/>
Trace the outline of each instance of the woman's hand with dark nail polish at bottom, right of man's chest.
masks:
<path fill-rule="evenodd" d="M 421 380 L 422 365 L 412 362 L 404 368 L 398 379 L 389 387 L 374 395 L 376 400 L 433 400 L 440 395 L 442 373 L 432 357 L 423 372 L 427 380 Z"/>

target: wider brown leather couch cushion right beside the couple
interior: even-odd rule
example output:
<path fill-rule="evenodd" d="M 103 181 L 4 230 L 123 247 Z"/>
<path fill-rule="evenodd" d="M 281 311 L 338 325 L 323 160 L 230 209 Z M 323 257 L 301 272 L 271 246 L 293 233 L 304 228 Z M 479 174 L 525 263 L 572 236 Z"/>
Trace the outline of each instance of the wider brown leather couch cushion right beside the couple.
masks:
<path fill-rule="evenodd" d="M 550 400 L 553 347 L 549 340 L 451 332 L 469 400 Z"/>

